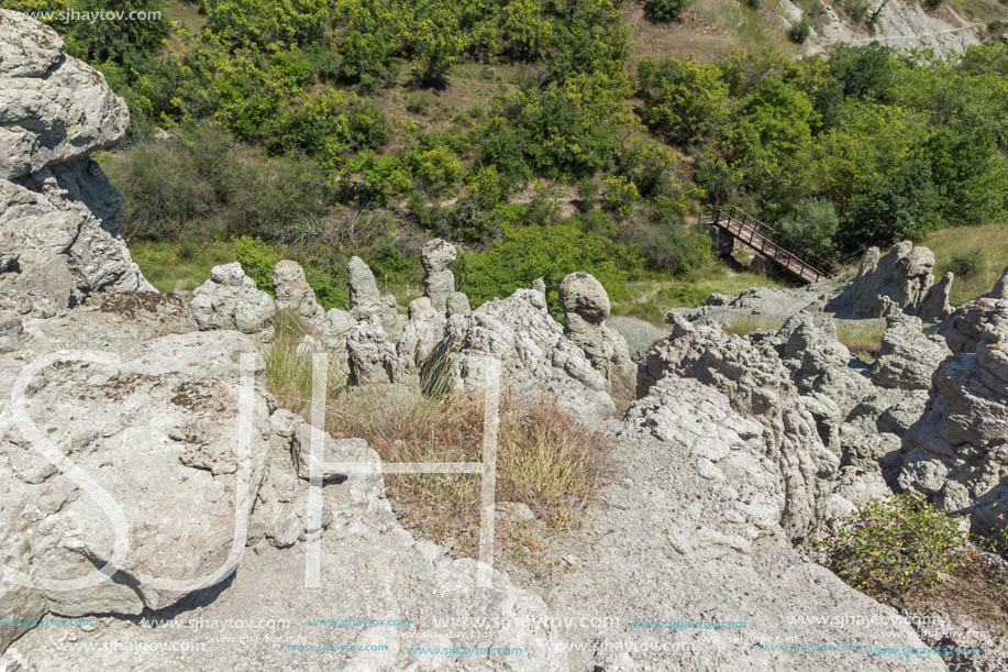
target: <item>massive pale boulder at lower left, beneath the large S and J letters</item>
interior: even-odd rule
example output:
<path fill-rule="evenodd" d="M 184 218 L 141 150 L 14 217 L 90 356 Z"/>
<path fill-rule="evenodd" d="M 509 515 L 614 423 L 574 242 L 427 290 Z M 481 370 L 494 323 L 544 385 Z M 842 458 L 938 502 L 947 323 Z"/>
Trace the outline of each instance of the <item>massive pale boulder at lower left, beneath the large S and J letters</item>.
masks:
<path fill-rule="evenodd" d="M 91 330 L 103 326 L 98 332 L 108 338 L 122 318 L 95 310 L 46 324 L 19 353 L 21 361 L 0 361 L 13 374 L 0 376 L 0 395 L 10 398 L 24 363 L 76 337 L 69 331 L 82 320 Z M 240 362 L 254 352 L 246 337 L 188 332 L 142 345 L 112 339 L 126 349 L 117 348 L 123 352 L 118 363 L 54 361 L 27 378 L 27 422 L 7 411 L 0 420 L 8 494 L 0 537 L 21 549 L 24 571 L 40 581 L 73 580 L 113 563 L 111 581 L 75 590 L 43 584 L 31 598 L 65 616 L 159 609 L 203 587 L 159 580 L 200 584 L 208 575 L 226 576 L 241 559 L 244 539 L 235 544 L 236 530 L 265 472 L 270 431 L 261 359 L 248 396 L 251 443 L 237 441 Z M 47 450 L 68 462 L 52 463 Z M 67 471 L 71 465 L 111 504 Z"/>

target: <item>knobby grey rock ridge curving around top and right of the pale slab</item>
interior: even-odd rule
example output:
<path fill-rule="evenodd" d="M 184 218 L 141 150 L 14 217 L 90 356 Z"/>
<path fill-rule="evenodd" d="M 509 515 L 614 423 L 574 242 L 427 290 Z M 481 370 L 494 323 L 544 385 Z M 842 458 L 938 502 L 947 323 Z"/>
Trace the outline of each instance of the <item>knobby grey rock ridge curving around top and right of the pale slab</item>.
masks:
<path fill-rule="evenodd" d="M 773 346 L 676 318 L 672 334 L 647 355 L 639 396 L 665 378 L 709 385 L 736 414 L 764 428 L 761 454 L 775 465 L 785 500 L 779 525 L 791 539 L 808 535 L 827 511 L 840 461 L 823 445 L 815 418 Z"/>

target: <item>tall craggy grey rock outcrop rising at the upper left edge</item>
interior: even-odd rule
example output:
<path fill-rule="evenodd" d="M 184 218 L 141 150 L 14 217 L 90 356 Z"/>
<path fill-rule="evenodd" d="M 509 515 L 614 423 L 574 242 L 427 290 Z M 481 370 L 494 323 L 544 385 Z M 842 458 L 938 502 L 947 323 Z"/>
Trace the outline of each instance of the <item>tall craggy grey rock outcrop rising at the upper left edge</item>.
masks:
<path fill-rule="evenodd" d="M 125 101 L 56 33 L 0 10 L 0 291 L 57 307 L 153 289 L 122 241 L 122 199 L 88 158 L 118 143 Z"/>

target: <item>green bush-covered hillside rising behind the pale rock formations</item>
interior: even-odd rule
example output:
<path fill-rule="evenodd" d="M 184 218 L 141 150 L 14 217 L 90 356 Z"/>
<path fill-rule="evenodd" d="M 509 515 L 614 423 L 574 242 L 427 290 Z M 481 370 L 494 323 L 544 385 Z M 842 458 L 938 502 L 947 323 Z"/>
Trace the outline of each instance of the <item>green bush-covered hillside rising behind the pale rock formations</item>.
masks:
<path fill-rule="evenodd" d="M 131 242 L 231 249 L 264 286 L 293 256 L 325 305 L 345 302 L 335 271 L 354 253 L 408 295 L 431 235 L 464 246 L 455 272 L 477 304 L 538 276 L 555 293 L 575 268 L 619 301 L 709 263 L 688 223 L 715 203 L 822 264 L 1008 219 L 996 41 L 945 60 L 877 44 L 798 59 L 783 42 L 732 52 L 731 31 L 705 27 L 739 16 L 743 48 L 786 40 L 768 1 L 124 5 L 167 15 L 55 26 L 130 103 L 132 145 L 104 166 Z M 663 36 L 684 30 L 721 42 L 668 57 Z"/>

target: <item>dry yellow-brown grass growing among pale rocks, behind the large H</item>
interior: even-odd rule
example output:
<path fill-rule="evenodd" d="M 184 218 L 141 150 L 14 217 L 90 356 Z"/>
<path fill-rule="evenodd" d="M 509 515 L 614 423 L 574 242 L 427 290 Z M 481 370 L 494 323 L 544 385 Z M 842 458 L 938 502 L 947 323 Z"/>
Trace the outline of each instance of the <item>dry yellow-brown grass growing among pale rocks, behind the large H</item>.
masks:
<path fill-rule="evenodd" d="M 299 352 L 298 344 L 309 332 L 296 316 L 284 311 L 274 326 L 276 335 L 266 355 L 269 390 L 285 408 L 307 417 L 311 354 Z M 341 389 L 342 379 L 334 374 L 330 379 L 326 430 L 331 434 L 365 439 L 386 462 L 483 461 L 481 393 L 425 395 L 417 385 Z M 525 504 L 549 530 L 576 528 L 601 483 L 607 452 L 601 436 L 551 399 L 519 400 L 507 390 L 501 392 L 498 417 L 497 502 Z M 440 543 L 451 541 L 458 554 L 476 557 L 478 475 L 396 474 L 386 476 L 386 485 L 407 528 Z M 516 558 L 538 552 L 529 530 L 499 528 L 500 539 Z"/>

